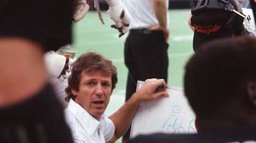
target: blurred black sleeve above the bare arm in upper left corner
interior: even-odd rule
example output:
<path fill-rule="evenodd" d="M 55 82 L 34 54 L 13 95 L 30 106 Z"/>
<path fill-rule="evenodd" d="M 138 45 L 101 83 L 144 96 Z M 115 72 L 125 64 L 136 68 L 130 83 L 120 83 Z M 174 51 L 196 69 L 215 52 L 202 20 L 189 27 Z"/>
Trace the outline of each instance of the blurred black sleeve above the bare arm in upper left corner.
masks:
<path fill-rule="evenodd" d="M 1 0 L 0 36 L 32 39 L 44 50 L 71 43 L 73 0 Z"/>

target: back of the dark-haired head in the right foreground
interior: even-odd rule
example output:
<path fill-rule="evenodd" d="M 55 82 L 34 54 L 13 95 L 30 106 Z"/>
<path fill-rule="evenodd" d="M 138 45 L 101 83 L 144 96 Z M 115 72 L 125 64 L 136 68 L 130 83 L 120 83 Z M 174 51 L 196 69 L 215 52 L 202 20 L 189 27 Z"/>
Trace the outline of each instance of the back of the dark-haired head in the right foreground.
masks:
<path fill-rule="evenodd" d="M 253 105 L 249 81 L 256 82 L 256 39 L 249 36 L 209 42 L 185 66 L 185 96 L 197 117 L 216 118 L 237 99 Z"/>

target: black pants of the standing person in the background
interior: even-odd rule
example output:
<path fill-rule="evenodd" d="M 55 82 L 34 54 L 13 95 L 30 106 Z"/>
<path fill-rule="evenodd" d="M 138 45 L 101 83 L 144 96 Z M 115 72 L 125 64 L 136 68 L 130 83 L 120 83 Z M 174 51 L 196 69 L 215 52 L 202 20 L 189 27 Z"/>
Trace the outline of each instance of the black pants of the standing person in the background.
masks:
<path fill-rule="evenodd" d="M 124 47 L 124 58 L 129 70 L 126 101 L 136 91 L 137 81 L 168 77 L 168 44 L 160 30 L 130 30 Z M 129 139 L 129 131 L 124 140 Z"/>

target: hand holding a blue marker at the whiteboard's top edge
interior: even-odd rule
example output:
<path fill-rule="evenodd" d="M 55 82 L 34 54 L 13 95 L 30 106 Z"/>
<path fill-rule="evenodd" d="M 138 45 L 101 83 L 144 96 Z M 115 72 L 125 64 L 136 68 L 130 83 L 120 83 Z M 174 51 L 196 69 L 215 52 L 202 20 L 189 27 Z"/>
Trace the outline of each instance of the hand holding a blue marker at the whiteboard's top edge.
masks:
<path fill-rule="evenodd" d="M 157 87 L 163 85 L 163 89 L 161 91 L 156 91 Z M 164 79 L 147 79 L 142 87 L 134 93 L 134 98 L 137 99 L 138 102 L 150 101 L 156 99 L 161 96 L 167 96 L 166 92 L 166 83 Z"/>

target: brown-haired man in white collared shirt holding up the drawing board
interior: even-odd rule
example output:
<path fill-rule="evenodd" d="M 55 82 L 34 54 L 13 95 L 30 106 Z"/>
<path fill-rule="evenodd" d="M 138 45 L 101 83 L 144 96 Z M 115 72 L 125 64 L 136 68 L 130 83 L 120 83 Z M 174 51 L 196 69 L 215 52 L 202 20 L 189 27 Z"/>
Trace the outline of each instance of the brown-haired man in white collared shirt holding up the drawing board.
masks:
<path fill-rule="evenodd" d="M 74 142 L 114 142 L 126 132 L 140 102 L 168 96 L 163 79 L 147 79 L 126 104 L 107 118 L 104 111 L 116 82 L 116 67 L 97 53 L 86 53 L 74 62 L 65 109 Z M 157 91 L 160 85 L 164 88 Z"/>

